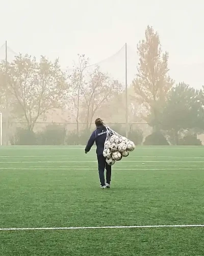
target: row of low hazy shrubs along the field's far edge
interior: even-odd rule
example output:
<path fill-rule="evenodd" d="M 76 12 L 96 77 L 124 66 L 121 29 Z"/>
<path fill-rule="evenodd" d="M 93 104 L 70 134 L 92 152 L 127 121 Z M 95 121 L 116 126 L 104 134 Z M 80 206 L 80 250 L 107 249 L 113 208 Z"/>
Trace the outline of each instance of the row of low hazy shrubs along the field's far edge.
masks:
<path fill-rule="evenodd" d="M 112 129 L 125 136 L 125 130 L 120 124 L 112 126 Z M 66 133 L 61 125 L 49 124 L 43 131 L 37 133 L 17 129 L 16 134 L 10 138 L 10 143 L 12 145 L 85 145 L 90 134 L 89 130 L 84 130 L 79 135 L 77 131 Z M 129 139 L 140 145 L 143 141 L 143 132 L 139 129 L 131 131 Z M 145 138 L 143 145 L 169 145 L 169 142 L 161 132 L 155 132 Z M 188 135 L 180 139 L 178 145 L 202 145 L 202 143 L 195 136 Z"/>

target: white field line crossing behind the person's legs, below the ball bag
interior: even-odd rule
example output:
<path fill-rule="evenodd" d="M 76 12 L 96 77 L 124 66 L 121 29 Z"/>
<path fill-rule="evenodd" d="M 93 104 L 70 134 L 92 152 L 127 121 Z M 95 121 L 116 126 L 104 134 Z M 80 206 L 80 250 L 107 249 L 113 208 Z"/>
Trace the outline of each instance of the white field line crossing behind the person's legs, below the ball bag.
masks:
<path fill-rule="evenodd" d="M 96 170 L 97 168 L 16 168 L 16 167 L 0 167 L 0 170 Z M 204 168 L 115 168 L 114 170 L 204 170 Z"/>

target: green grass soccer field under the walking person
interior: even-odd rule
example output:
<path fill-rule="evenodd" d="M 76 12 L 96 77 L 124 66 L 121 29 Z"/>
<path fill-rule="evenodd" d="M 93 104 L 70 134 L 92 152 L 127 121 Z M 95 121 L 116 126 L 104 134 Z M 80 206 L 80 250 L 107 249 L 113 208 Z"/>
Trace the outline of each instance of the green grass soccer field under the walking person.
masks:
<path fill-rule="evenodd" d="M 138 147 L 99 188 L 95 150 L 0 148 L 0 255 L 204 255 L 204 147 Z"/>

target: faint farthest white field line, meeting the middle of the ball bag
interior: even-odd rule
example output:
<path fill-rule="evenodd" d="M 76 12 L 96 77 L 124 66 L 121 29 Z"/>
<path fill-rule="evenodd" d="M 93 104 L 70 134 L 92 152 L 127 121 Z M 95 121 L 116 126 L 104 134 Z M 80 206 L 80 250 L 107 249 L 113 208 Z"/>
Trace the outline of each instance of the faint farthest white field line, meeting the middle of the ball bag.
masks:
<path fill-rule="evenodd" d="M 96 156 L 81 156 L 81 155 L 78 155 L 78 156 L 72 156 L 72 155 L 64 155 L 64 156 L 60 156 L 60 155 L 55 155 L 55 156 L 0 156 L 0 158 L 27 158 L 27 157 L 31 157 L 31 158 L 48 158 L 48 157 L 67 157 L 67 158 L 95 158 Z M 128 156 L 129 158 L 130 157 L 134 157 L 134 158 L 185 158 L 185 159 L 188 159 L 188 158 L 195 158 L 195 159 L 203 159 L 204 157 L 183 157 L 183 156 Z"/>

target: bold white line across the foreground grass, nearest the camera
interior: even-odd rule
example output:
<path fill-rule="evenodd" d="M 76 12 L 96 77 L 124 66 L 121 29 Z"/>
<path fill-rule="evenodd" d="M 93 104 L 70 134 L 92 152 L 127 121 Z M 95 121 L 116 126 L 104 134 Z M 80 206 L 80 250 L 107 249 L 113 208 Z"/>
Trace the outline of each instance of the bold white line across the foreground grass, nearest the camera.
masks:
<path fill-rule="evenodd" d="M 63 229 L 108 229 L 108 228 L 161 228 L 161 227 L 204 227 L 203 224 L 196 225 L 148 225 L 148 226 L 104 226 L 104 227 L 34 227 L 34 228 L 0 228 L 0 231 L 13 230 L 63 230 Z"/>

